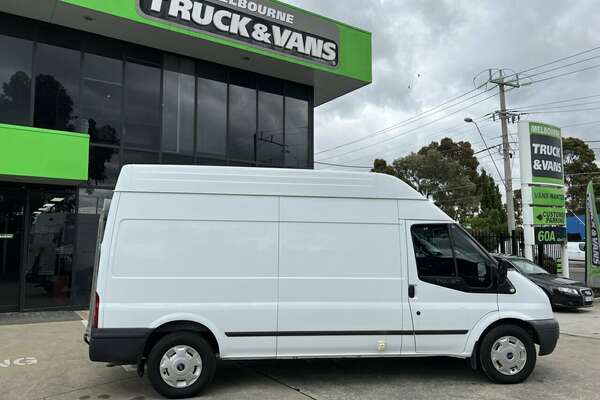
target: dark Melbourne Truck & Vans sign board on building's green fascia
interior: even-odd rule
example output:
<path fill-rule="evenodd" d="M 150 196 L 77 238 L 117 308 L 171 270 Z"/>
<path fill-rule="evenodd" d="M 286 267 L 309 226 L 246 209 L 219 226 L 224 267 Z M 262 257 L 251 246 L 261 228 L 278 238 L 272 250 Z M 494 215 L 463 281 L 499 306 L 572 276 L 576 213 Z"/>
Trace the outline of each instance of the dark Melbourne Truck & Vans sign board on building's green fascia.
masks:
<path fill-rule="evenodd" d="M 304 60 L 338 65 L 333 22 L 271 0 L 134 0 L 144 18 L 233 39 Z"/>

